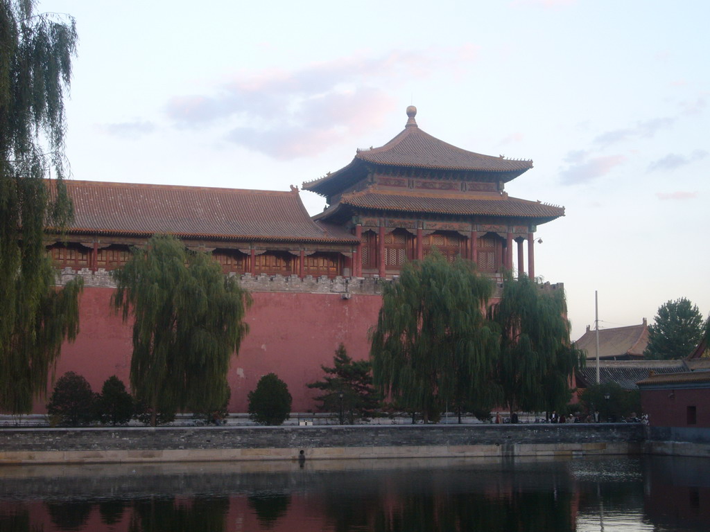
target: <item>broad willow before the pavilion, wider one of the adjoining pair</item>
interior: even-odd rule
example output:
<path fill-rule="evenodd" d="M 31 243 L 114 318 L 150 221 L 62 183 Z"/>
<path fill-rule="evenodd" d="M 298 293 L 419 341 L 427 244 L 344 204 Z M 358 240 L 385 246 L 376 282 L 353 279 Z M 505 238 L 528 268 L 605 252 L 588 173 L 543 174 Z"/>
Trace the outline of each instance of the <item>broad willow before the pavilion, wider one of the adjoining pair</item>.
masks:
<path fill-rule="evenodd" d="M 484 309 L 493 283 L 472 262 L 432 253 L 386 284 L 370 356 L 376 387 L 395 404 L 438 419 L 445 406 L 496 400 L 498 337 Z"/>

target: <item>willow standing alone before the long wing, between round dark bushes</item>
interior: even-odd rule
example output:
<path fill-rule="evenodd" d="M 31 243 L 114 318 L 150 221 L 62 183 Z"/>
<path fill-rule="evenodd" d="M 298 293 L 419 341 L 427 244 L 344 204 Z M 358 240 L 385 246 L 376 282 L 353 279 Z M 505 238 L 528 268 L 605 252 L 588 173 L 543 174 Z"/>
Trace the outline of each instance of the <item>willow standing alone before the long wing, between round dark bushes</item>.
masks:
<path fill-rule="evenodd" d="M 224 404 L 229 362 L 249 331 L 251 299 L 236 279 L 169 235 L 133 248 L 114 279 L 111 303 L 124 321 L 133 316 L 131 389 L 151 408 L 151 424 L 158 411 Z"/>

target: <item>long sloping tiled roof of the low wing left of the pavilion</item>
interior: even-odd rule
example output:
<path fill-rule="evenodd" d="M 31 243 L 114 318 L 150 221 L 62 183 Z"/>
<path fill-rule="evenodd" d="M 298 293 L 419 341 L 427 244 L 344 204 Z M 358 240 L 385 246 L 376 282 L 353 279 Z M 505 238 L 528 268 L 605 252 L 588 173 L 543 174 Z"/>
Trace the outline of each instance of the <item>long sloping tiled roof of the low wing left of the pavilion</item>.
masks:
<path fill-rule="evenodd" d="M 70 234 L 209 240 L 353 243 L 337 226 L 313 221 L 297 190 L 179 187 L 67 180 L 75 217 Z"/>

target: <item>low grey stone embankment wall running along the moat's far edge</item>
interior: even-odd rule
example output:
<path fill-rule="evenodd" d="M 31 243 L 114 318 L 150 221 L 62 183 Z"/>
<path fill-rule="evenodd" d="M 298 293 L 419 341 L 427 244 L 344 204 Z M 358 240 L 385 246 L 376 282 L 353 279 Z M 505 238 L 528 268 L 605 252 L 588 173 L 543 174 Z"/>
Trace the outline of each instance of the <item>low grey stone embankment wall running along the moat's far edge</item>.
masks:
<path fill-rule="evenodd" d="M 633 423 L 6 428 L 0 464 L 633 455 L 644 433 Z"/>

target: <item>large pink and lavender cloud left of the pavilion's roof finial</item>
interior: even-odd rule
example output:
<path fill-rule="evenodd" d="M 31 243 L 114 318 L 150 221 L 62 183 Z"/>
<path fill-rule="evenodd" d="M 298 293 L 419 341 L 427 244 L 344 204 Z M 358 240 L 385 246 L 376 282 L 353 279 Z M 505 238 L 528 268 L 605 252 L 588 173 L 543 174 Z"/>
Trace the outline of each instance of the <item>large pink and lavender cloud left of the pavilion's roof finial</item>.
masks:
<path fill-rule="evenodd" d="M 241 72 L 214 94 L 173 97 L 165 112 L 178 128 L 219 127 L 233 143 L 291 159 L 380 126 L 393 105 L 386 91 L 442 70 L 455 73 L 478 53 L 475 45 L 466 44 L 353 55 L 294 70 Z"/>

